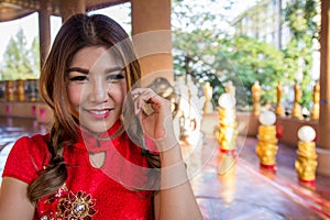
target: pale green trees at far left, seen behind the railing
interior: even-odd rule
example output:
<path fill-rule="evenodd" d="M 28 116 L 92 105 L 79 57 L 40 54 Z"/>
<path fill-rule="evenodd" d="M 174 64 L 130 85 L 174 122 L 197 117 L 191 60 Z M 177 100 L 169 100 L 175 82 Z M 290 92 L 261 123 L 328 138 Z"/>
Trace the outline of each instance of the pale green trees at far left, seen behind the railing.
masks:
<path fill-rule="evenodd" d="M 23 30 L 19 30 L 14 37 L 11 37 L 3 56 L 3 67 L 0 79 L 28 79 L 38 78 L 40 56 L 38 41 L 34 38 L 30 48 L 26 47 L 26 37 Z"/>

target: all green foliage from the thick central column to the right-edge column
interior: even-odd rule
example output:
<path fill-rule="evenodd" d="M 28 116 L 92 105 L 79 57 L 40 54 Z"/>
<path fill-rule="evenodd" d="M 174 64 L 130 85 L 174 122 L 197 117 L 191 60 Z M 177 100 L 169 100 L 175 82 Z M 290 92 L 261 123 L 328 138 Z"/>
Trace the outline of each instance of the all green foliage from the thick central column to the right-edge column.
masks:
<path fill-rule="evenodd" d="M 226 84 L 233 81 L 238 103 L 244 106 L 252 103 L 251 88 L 255 80 L 263 87 L 262 103 L 274 103 L 277 81 L 294 85 L 297 73 L 302 72 L 301 103 L 309 103 L 311 90 L 307 87 L 310 86 L 311 55 L 319 29 L 315 19 L 317 1 L 297 0 L 287 7 L 285 21 L 294 37 L 284 50 L 245 35 L 229 34 L 221 23 L 228 13 L 216 14 L 215 1 L 207 0 L 204 6 L 209 7 L 201 9 L 198 1 L 173 1 L 175 75 L 191 75 L 201 86 L 202 81 L 209 81 L 215 103 Z M 229 11 L 232 1 L 227 3 Z M 301 63 L 304 65 L 299 66 Z"/>

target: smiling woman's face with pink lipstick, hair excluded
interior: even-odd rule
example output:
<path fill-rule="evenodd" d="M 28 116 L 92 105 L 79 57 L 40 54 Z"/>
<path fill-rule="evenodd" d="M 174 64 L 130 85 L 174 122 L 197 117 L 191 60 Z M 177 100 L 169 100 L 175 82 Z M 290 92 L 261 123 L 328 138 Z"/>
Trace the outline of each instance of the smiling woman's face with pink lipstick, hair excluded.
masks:
<path fill-rule="evenodd" d="M 121 114 L 127 95 L 123 65 L 105 47 L 85 47 L 69 66 L 67 89 L 80 124 L 96 133 L 105 132 Z"/>

